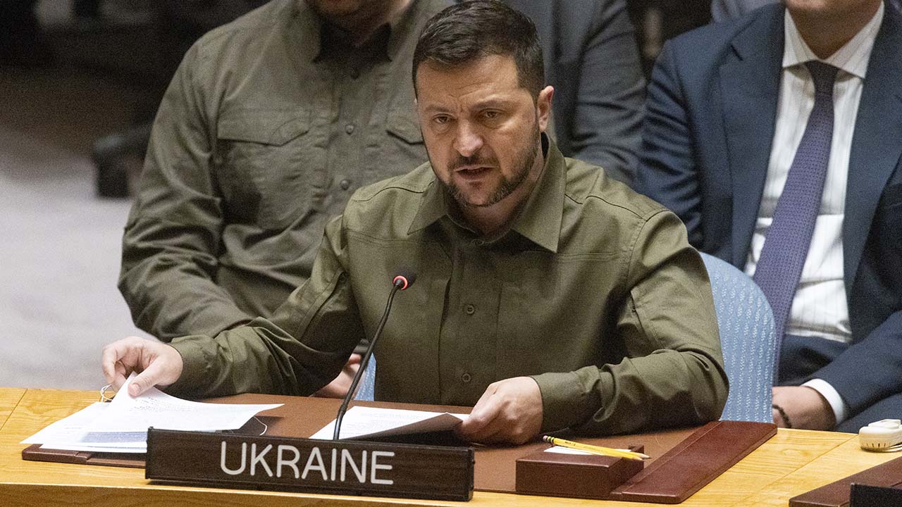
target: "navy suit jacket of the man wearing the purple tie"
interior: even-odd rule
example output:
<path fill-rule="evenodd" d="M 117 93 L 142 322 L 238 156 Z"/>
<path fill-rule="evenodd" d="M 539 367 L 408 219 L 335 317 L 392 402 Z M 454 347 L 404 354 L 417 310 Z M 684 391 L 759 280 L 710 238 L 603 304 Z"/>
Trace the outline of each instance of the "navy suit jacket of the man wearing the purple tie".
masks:
<path fill-rule="evenodd" d="M 777 115 L 785 9 L 670 41 L 652 73 L 637 186 L 742 269 Z M 852 343 L 812 377 L 851 414 L 902 392 L 902 17 L 886 9 L 851 144 L 843 269 Z"/>

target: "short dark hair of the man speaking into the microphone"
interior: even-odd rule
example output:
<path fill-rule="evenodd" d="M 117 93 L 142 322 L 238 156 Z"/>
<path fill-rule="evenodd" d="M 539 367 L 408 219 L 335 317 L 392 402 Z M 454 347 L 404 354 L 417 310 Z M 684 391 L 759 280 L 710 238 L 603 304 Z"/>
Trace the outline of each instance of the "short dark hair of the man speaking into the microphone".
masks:
<path fill-rule="evenodd" d="M 490 55 L 512 56 L 520 87 L 533 100 L 538 97 L 545 86 L 545 68 L 536 25 L 497 0 L 451 5 L 432 16 L 413 51 L 414 92 L 417 69 L 424 61 L 456 67 Z"/>

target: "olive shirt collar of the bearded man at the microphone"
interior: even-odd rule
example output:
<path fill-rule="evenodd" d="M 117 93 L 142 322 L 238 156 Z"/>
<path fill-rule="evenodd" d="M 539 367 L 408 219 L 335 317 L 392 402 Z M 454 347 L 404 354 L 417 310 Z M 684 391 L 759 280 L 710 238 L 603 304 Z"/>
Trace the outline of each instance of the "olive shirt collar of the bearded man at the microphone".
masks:
<path fill-rule="evenodd" d="M 549 252 L 557 253 L 561 222 L 564 217 L 566 161 L 547 134 L 542 134 L 542 146 L 547 147 L 542 174 L 509 230 L 516 231 Z M 423 193 L 417 214 L 408 228 L 408 234 L 426 228 L 442 217 L 450 217 L 448 202 L 450 199 L 444 185 L 434 177 Z M 499 238 L 503 236 L 504 234 Z"/>

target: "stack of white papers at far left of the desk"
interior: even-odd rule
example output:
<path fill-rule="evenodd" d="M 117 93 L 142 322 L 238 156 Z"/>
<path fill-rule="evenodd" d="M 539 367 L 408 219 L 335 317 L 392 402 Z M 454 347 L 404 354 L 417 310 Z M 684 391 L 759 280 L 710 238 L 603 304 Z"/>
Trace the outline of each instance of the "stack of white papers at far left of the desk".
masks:
<path fill-rule="evenodd" d="M 128 384 L 133 378 L 134 374 L 116 393 L 113 401 L 94 403 L 41 429 L 22 443 L 74 451 L 145 453 L 148 428 L 191 431 L 238 429 L 257 412 L 282 405 L 199 403 L 180 400 L 156 388 L 133 398 L 128 393 Z"/>

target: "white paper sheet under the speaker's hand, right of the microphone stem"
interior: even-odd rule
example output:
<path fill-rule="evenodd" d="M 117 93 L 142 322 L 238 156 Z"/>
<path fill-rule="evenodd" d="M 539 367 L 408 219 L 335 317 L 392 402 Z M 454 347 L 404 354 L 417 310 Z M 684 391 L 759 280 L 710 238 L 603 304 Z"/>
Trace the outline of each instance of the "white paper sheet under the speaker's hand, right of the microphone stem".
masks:
<path fill-rule="evenodd" d="M 467 414 L 427 412 L 422 410 L 379 409 L 355 406 L 345 412 L 341 423 L 341 438 L 389 437 L 429 431 L 454 429 Z M 317 431 L 310 438 L 328 440 L 335 432 L 335 421 Z"/>

